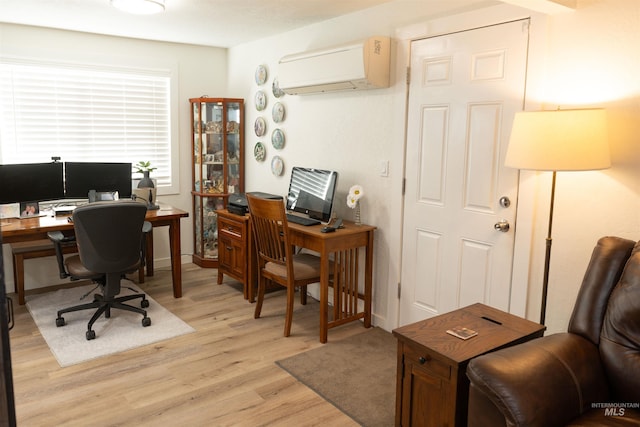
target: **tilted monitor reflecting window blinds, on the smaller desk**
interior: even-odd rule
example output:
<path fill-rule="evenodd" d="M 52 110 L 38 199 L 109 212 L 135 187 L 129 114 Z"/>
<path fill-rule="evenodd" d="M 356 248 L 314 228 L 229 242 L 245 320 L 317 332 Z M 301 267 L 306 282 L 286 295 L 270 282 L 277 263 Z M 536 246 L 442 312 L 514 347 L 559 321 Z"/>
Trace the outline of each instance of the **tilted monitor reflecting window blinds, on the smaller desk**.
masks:
<path fill-rule="evenodd" d="M 328 223 L 337 185 L 336 171 L 294 166 L 287 193 L 287 210 Z"/>

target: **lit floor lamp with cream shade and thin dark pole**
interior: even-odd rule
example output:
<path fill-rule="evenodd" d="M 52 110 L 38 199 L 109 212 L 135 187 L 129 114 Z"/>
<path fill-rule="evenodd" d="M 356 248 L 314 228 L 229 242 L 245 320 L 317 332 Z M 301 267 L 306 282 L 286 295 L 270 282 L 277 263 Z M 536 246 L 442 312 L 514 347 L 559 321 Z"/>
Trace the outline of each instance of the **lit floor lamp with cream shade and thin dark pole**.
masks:
<path fill-rule="evenodd" d="M 540 323 L 544 325 L 549 287 L 556 172 L 597 170 L 611 166 L 605 110 L 516 113 L 505 165 L 516 169 L 553 173 L 540 307 Z"/>

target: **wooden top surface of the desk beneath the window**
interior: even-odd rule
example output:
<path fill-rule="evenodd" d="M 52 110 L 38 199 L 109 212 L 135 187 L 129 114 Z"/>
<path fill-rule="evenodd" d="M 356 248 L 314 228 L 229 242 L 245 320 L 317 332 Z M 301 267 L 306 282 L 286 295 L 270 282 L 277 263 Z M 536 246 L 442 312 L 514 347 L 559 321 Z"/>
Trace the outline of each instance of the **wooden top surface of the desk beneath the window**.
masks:
<path fill-rule="evenodd" d="M 189 213 L 169 205 L 160 205 L 160 209 L 147 211 L 149 222 L 162 223 L 175 218 L 188 217 Z M 68 215 L 48 215 L 34 218 L 5 218 L 0 220 L 2 243 L 22 242 L 25 240 L 46 239 L 49 231 L 73 230 Z"/>

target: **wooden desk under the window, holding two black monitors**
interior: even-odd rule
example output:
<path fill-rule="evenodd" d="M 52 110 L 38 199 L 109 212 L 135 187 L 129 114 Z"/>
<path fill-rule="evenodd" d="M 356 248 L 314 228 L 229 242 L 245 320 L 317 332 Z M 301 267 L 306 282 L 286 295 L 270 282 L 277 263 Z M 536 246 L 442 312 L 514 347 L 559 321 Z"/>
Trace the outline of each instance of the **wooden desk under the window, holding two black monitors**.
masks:
<path fill-rule="evenodd" d="M 160 209 L 147 211 L 146 220 L 153 227 L 169 227 L 169 245 L 171 251 L 171 272 L 173 279 L 173 296 L 182 297 L 182 264 L 180 262 L 180 218 L 189 213 L 169 205 L 161 205 Z M 46 239 L 49 231 L 73 231 L 73 223 L 66 215 L 41 216 L 28 219 L 8 218 L 0 220 L 2 243 L 25 242 Z M 147 240 L 147 275 L 153 276 L 153 233 Z"/>

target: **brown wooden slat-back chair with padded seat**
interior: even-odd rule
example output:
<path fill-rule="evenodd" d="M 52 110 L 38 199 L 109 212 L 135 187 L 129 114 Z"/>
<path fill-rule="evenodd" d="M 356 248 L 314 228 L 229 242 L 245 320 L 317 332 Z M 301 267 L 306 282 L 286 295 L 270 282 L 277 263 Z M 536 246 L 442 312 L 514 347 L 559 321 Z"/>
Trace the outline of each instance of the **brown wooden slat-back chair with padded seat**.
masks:
<path fill-rule="evenodd" d="M 307 303 L 307 285 L 320 281 L 320 258 L 312 254 L 294 254 L 289 243 L 289 227 L 282 200 L 269 200 L 247 194 L 251 224 L 258 254 L 258 301 L 254 317 L 260 317 L 266 282 L 287 288 L 284 336 L 291 334 L 293 300 L 300 288 L 300 302 Z"/>

